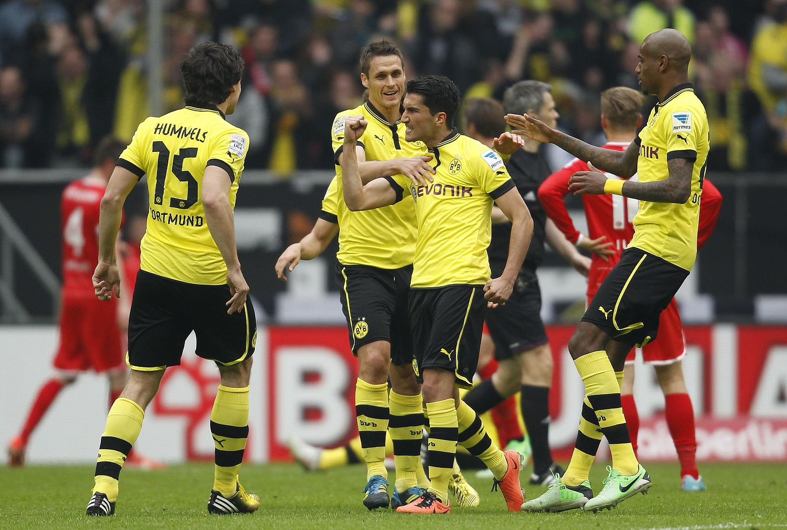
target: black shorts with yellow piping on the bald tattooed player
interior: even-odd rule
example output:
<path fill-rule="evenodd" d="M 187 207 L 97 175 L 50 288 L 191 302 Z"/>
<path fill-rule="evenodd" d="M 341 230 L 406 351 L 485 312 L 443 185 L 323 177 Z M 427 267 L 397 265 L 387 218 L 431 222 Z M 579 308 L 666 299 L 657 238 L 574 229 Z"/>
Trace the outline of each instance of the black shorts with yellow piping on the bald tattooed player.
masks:
<path fill-rule="evenodd" d="M 659 315 L 689 271 L 639 248 L 626 248 L 585 311 L 613 339 L 644 346 L 656 339 Z"/>

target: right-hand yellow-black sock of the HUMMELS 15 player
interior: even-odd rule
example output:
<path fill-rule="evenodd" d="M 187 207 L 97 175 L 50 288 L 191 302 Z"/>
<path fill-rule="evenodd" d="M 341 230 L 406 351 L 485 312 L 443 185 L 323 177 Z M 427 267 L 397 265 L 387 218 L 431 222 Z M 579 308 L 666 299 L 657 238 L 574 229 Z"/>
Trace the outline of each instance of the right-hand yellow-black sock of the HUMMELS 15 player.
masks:
<path fill-rule="evenodd" d="M 230 498 L 237 489 L 249 436 L 249 387 L 219 385 L 210 413 L 210 432 L 216 445 L 213 489 Z"/>

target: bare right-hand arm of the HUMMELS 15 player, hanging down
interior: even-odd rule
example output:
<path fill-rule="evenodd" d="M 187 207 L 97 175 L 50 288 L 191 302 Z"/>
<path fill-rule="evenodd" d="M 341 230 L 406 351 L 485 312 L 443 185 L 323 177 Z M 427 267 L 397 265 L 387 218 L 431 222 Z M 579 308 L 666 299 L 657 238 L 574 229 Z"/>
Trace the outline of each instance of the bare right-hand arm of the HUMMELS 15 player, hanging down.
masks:
<path fill-rule="evenodd" d="M 232 182 L 227 171 L 218 166 L 205 167 L 202 177 L 202 207 L 205 209 L 205 222 L 216 241 L 216 246 L 227 264 L 227 285 L 231 298 L 227 301 L 228 314 L 240 312 L 249 295 L 249 284 L 243 278 L 238 248 L 235 246 L 235 220 L 230 204 Z"/>

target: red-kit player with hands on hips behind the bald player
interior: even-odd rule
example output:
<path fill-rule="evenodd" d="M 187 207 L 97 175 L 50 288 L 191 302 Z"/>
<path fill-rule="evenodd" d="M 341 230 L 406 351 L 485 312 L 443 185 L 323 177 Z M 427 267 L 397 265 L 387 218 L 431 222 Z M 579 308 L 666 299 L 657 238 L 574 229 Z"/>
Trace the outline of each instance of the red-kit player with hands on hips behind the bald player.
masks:
<path fill-rule="evenodd" d="M 601 127 L 607 135 L 605 149 L 626 150 L 634 141 L 637 129 L 642 122 L 640 109 L 644 96 L 637 90 L 618 86 L 605 90 L 601 94 Z M 618 263 L 620 253 L 634 237 L 632 220 L 637 213 L 638 201 L 619 195 L 582 195 L 585 216 L 588 224 L 588 235 L 576 230 L 566 205 L 563 203 L 568 191 L 568 181 L 577 171 L 588 171 L 588 164 L 582 160 L 572 160 L 566 167 L 549 176 L 538 189 L 538 198 L 547 215 L 563 232 L 568 241 L 580 248 L 590 243 L 604 241 L 608 255 L 593 254 L 588 274 L 587 300 L 604 282 L 609 271 Z M 616 175 L 607 175 L 608 179 L 619 179 Z M 637 179 L 637 175 L 631 177 Z M 708 179 L 704 181 L 702 205 L 700 207 L 700 226 L 697 233 L 697 245 L 701 247 L 708 240 L 722 204 L 719 190 Z M 592 240 L 592 241 L 591 241 Z M 664 392 L 666 402 L 665 415 L 675 449 L 681 464 L 682 484 L 684 491 L 701 491 L 705 484 L 696 467 L 696 438 L 694 429 L 694 411 L 683 380 L 681 359 L 685 355 L 683 329 L 678 305 L 673 299 L 661 314 L 658 340 L 646 344 L 642 348 L 645 363 L 652 364 L 656 376 Z M 634 349 L 626 359 L 625 376 L 621 388 L 623 414 L 630 431 L 630 439 L 637 449 L 637 430 L 639 417 L 634 403 L 632 388 L 634 386 Z"/>

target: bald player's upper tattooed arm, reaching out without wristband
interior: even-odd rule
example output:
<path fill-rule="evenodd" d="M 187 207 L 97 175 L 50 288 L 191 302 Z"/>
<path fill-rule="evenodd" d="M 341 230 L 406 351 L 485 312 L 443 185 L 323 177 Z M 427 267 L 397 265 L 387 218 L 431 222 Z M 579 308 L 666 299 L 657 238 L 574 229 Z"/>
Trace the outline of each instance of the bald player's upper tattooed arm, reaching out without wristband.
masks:
<path fill-rule="evenodd" d="M 527 114 L 506 114 L 505 120 L 514 129 L 512 133 L 522 134 L 536 142 L 555 144 L 578 159 L 589 161 L 612 175 L 630 179 L 637 172 L 639 145 L 636 142 L 631 142 L 623 152 L 615 151 L 582 142 L 573 136 L 552 129 L 546 123 Z"/>

